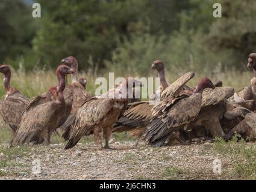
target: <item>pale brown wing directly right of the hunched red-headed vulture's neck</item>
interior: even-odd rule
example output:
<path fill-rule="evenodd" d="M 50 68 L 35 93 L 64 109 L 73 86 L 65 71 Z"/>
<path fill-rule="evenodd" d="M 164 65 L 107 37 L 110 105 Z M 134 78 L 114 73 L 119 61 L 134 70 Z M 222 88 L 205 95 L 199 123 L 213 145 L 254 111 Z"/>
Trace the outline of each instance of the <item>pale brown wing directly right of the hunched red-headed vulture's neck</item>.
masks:
<path fill-rule="evenodd" d="M 224 101 L 234 95 L 234 88 L 223 86 L 215 89 L 206 88 L 202 92 L 202 107 L 210 106 Z"/>

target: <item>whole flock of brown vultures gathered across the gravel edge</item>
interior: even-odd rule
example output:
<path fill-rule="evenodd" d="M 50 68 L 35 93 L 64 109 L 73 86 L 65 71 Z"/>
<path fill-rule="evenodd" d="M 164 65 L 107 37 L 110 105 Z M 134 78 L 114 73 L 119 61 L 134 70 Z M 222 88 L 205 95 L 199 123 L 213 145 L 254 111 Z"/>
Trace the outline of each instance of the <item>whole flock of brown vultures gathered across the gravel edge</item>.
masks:
<path fill-rule="evenodd" d="M 111 133 L 122 131 L 137 137 L 136 145 L 144 140 L 151 146 L 188 144 L 193 139 L 215 137 L 229 140 L 236 133 L 248 141 L 256 139 L 256 53 L 248 58 L 248 69 L 254 71 L 255 77 L 251 85 L 237 93 L 233 87 L 222 86 L 221 80 L 212 83 L 208 77 L 203 77 L 195 88 L 189 87 L 186 83 L 195 76 L 193 72 L 169 83 L 161 60 L 154 61 L 151 68 L 157 71 L 160 86 L 149 101 L 128 97 L 134 95 L 136 86 L 143 86 L 132 77 L 94 96 L 86 91 L 86 78 L 78 80 L 78 62 L 69 56 L 61 60 L 56 70 L 58 85 L 30 99 L 10 86 L 10 68 L 2 64 L 6 95 L 0 100 L 0 113 L 13 131 L 10 147 L 49 145 L 54 131 L 67 140 L 64 149 L 73 148 L 90 134 L 99 149 L 110 148 Z M 68 74 L 72 82 L 66 86 Z M 128 85 L 133 85 L 132 89 Z M 119 97 L 105 97 L 110 94 Z"/>

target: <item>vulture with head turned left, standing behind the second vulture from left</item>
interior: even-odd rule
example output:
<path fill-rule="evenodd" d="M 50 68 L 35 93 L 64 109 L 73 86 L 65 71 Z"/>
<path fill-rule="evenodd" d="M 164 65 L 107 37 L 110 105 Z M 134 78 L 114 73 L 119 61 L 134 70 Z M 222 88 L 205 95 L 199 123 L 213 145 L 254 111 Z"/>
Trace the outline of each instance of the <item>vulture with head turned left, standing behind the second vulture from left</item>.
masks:
<path fill-rule="evenodd" d="M 72 102 L 72 110 L 66 122 L 61 125 L 61 130 L 65 131 L 70 127 L 75 118 L 76 111 L 86 102 L 87 92 L 83 85 L 78 82 L 78 62 L 73 56 L 69 56 L 61 60 L 61 64 L 70 66 L 73 70 L 72 82 L 67 85 L 64 89 L 64 99 L 65 101 Z"/>

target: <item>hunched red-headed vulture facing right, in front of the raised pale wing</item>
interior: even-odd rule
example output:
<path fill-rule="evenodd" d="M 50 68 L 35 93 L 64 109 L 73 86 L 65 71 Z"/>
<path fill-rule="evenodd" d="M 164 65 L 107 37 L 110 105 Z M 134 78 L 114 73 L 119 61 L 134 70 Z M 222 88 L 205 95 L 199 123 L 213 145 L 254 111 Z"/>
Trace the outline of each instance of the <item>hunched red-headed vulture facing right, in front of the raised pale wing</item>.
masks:
<path fill-rule="evenodd" d="M 176 90 L 182 88 L 180 86 Z M 201 79 L 194 91 L 183 90 L 157 103 L 152 109 L 151 122 L 143 133 L 143 139 L 154 146 L 168 143 L 183 125 L 189 124 L 198 116 L 202 106 L 202 92 L 205 88 L 215 89 L 207 77 Z"/>

